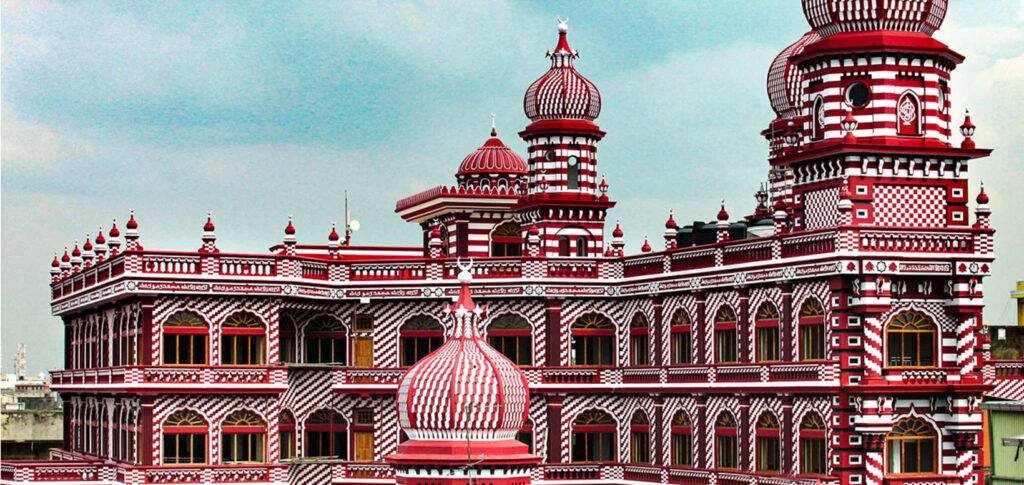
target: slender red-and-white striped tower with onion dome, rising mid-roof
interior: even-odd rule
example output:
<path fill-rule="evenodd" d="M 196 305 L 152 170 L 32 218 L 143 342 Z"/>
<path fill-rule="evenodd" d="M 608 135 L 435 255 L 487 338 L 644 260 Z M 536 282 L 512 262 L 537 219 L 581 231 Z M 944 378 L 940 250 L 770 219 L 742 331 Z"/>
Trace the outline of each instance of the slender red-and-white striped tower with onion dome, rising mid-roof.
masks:
<path fill-rule="evenodd" d="M 545 256 L 600 256 L 604 218 L 614 206 L 599 185 L 597 143 L 604 132 L 594 123 L 601 113 L 597 86 L 572 65 L 580 54 L 569 47 L 568 25 L 558 20 L 558 43 L 548 52 L 551 69 L 526 89 L 523 108 L 530 124 L 526 194 L 518 210 L 523 225 L 536 227 Z"/>

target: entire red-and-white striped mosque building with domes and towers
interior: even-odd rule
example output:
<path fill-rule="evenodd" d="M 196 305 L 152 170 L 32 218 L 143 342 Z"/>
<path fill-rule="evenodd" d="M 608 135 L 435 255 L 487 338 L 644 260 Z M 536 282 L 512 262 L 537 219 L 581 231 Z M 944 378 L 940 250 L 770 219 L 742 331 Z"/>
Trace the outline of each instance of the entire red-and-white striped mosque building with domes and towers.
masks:
<path fill-rule="evenodd" d="M 746 216 L 670 212 L 664 249 L 605 238 L 564 23 L 526 156 L 492 130 L 397 203 L 422 247 L 87 237 L 52 267 L 65 447 L 0 482 L 982 483 L 979 404 L 1024 398 L 1024 363 L 988 358 L 990 150 L 950 113 L 946 1 L 802 2 L 767 185 Z"/>

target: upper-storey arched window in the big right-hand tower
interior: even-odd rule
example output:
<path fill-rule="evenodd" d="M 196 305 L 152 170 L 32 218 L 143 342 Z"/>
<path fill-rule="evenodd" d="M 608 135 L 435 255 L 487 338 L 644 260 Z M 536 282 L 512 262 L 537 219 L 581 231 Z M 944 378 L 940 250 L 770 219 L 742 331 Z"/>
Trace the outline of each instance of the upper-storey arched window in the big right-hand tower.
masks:
<path fill-rule="evenodd" d="M 897 314 L 886 326 L 890 367 L 933 367 L 936 328 L 932 319 L 918 311 Z"/>

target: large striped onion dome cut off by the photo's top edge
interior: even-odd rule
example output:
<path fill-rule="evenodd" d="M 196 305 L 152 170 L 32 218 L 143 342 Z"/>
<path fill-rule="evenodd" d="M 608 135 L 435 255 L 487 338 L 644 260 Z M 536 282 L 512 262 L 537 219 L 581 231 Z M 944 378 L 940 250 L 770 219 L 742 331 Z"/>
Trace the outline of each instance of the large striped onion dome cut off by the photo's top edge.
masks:
<path fill-rule="evenodd" d="M 801 0 L 807 23 L 828 37 L 841 32 L 898 31 L 932 35 L 948 0 Z"/>

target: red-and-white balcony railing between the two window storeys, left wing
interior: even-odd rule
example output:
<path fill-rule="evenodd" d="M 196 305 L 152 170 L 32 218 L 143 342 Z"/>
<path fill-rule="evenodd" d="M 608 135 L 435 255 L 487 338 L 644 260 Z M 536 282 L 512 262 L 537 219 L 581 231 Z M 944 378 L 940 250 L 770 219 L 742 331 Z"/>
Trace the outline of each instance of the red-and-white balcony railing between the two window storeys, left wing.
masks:
<path fill-rule="evenodd" d="M 288 371 L 278 366 L 124 366 L 53 370 L 51 388 L 71 391 L 283 392 Z"/>

